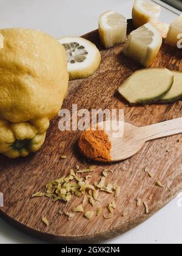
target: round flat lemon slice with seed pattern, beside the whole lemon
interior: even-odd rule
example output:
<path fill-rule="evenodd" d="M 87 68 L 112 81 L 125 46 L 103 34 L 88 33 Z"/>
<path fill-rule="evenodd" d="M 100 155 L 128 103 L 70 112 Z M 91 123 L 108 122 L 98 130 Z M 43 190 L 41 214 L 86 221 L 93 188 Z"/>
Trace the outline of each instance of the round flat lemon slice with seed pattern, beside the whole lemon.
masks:
<path fill-rule="evenodd" d="M 101 54 L 95 44 L 81 37 L 60 38 L 67 52 L 70 79 L 92 76 L 101 63 Z"/>

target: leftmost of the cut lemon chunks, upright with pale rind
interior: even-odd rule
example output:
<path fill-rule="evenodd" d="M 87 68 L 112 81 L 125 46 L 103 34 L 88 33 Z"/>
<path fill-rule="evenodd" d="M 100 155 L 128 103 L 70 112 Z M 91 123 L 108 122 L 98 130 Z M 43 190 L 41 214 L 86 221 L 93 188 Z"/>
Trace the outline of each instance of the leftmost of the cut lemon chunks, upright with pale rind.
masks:
<path fill-rule="evenodd" d="M 106 49 L 126 41 L 127 20 L 112 10 L 99 17 L 99 36 Z"/>

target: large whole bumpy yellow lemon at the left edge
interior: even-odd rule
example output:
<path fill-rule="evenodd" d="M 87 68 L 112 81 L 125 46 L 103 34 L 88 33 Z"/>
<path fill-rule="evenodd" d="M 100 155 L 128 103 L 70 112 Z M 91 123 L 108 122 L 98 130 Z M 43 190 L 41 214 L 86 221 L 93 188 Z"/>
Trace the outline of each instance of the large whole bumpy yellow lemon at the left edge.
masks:
<path fill-rule="evenodd" d="M 39 30 L 2 29 L 0 35 L 0 153 L 25 157 L 41 148 L 66 97 L 66 51 Z"/>

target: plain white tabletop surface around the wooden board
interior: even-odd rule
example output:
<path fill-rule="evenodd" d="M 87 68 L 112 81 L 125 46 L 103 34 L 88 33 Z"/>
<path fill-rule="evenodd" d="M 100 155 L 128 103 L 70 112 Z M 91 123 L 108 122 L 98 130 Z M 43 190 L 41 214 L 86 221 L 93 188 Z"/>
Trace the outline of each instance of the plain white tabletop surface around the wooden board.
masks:
<path fill-rule="evenodd" d="M 132 0 L 0 0 L 0 28 L 40 29 L 55 38 L 79 36 L 97 28 L 98 16 L 116 10 L 131 18 Z M 177 15 L 163 9 L 161 21 L 170 23 Z M 182 196 L 149 220 L 103 243 L 182 243 Z M 0 244 L 42 243 L 24 235 L 0 218 Z"/>

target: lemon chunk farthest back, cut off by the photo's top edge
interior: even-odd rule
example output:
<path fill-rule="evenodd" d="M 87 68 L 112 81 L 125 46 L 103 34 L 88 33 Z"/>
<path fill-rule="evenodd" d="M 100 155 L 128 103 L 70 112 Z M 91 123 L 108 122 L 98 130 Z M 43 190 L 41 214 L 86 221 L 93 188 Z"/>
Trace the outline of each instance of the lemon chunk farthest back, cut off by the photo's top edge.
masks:
<path fill-rule="evenodd" d="M 141 27 L 146 23 L 153 23 L 158 20 L 161 7 L 152 2 L 135 0 L 133 4 L 132 19 L 135 27 Z"/>

